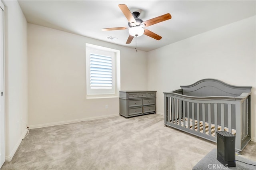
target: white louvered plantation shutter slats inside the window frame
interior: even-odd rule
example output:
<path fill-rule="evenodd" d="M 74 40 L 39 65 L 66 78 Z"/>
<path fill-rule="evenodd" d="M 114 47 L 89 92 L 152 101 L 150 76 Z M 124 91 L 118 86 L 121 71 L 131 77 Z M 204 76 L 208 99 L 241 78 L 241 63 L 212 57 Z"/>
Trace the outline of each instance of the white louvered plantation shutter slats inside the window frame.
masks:
<path fill-rule="evenodd" d="M 90 88 L 112 89 L 112 57 L 90 54 Z"/>

